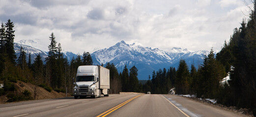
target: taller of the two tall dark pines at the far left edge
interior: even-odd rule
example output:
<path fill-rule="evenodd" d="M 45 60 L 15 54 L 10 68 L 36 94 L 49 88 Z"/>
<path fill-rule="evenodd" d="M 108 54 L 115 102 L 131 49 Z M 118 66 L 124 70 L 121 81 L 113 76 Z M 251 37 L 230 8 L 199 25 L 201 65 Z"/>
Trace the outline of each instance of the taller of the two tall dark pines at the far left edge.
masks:
<path fill-rule="evenodd" d="M 10 59 L 10 61 L 16 65 L 15 59 L 17 58 L 15 55 L 15 51 L 14 51 L 14 45 L 13 45 L 13 41 L 14 41 L 14 30 L 13 30 L 14 24 L 13 22 L 11 22 L 11 20 L 9 19 L 7 21 L 7 23 L 5 23 L 5 39 L 6 39 L 6 43 L 4 44 L 4 48 L 6 50 L 8 59 Z"/>

